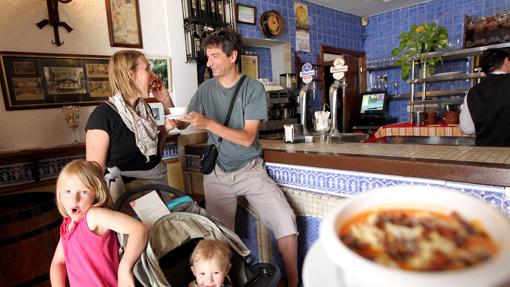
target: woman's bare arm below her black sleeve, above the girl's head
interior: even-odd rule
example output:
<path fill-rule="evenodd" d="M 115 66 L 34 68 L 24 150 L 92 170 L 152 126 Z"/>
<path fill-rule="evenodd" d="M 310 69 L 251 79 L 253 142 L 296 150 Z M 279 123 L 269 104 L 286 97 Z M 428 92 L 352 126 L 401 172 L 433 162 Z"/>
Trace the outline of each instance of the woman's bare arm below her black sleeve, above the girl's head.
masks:
<path fill-rule="evenodd" d="M 87 130 L 85 135 L 85 158 L 101 165 L 103 173 L 106 170 L 106 158 L 110 146 L 110 135 L 103 130 Z"/>

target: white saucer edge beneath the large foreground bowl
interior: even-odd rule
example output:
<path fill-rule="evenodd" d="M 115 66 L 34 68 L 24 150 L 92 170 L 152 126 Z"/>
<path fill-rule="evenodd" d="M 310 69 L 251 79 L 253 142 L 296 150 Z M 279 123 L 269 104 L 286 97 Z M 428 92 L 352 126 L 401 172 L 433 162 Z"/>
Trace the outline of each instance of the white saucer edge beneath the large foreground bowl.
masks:
<path fill-rule="evenodd" d="M 343 272 L 329 259 L 319 240 L 315 241 L 303 263 L 303 287 L 347 287 Z"/>

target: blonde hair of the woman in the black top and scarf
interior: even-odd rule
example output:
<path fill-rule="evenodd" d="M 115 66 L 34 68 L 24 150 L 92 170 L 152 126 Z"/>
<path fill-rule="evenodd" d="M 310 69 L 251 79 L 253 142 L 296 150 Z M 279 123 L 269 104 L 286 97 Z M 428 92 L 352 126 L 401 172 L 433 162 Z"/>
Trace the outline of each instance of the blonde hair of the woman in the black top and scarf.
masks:
<path fill-rule="evenodd" d="M 121 50 L 108 61 L 110 88 L 114 94 L 120 92 L 126 101 L 138 98 L 141 93 L 129 77 L 130 71 L 136 71 L 136 60 L 141 56 L 144 54 L 136 50 Z"/>

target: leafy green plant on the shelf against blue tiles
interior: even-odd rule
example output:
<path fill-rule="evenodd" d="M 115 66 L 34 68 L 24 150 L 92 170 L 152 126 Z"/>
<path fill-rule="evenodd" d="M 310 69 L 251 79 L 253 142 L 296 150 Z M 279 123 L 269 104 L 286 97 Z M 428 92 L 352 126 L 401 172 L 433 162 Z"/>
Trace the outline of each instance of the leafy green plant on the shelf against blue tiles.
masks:
<path fill-rule="evenodd" d="M 436 23 L 413 24 L 408 32 L 400 34 L 400 45 L 391 51 L 391 55 L 400 55 L 395 62 L 400 66 L 402 79 L 407 80 L 411 71 L 412 58 L 447 47 L 448 31 L 443 26 Z M 440 57 L 425 58 L 422 56 L 420 58 L 422 67 L 426 65 L 431 74 L 439 61 L 441 61 Z"/>

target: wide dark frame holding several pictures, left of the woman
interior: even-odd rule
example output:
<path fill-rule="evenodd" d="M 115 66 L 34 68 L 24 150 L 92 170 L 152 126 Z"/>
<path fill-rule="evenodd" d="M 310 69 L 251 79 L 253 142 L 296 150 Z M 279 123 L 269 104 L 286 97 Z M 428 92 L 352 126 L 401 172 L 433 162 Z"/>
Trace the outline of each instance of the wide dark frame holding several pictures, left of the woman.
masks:
<path fill-rule="evenodd" d="M 96 105 L 111 96 L 108 56 L 0 53 L 6 110 Z"/>

